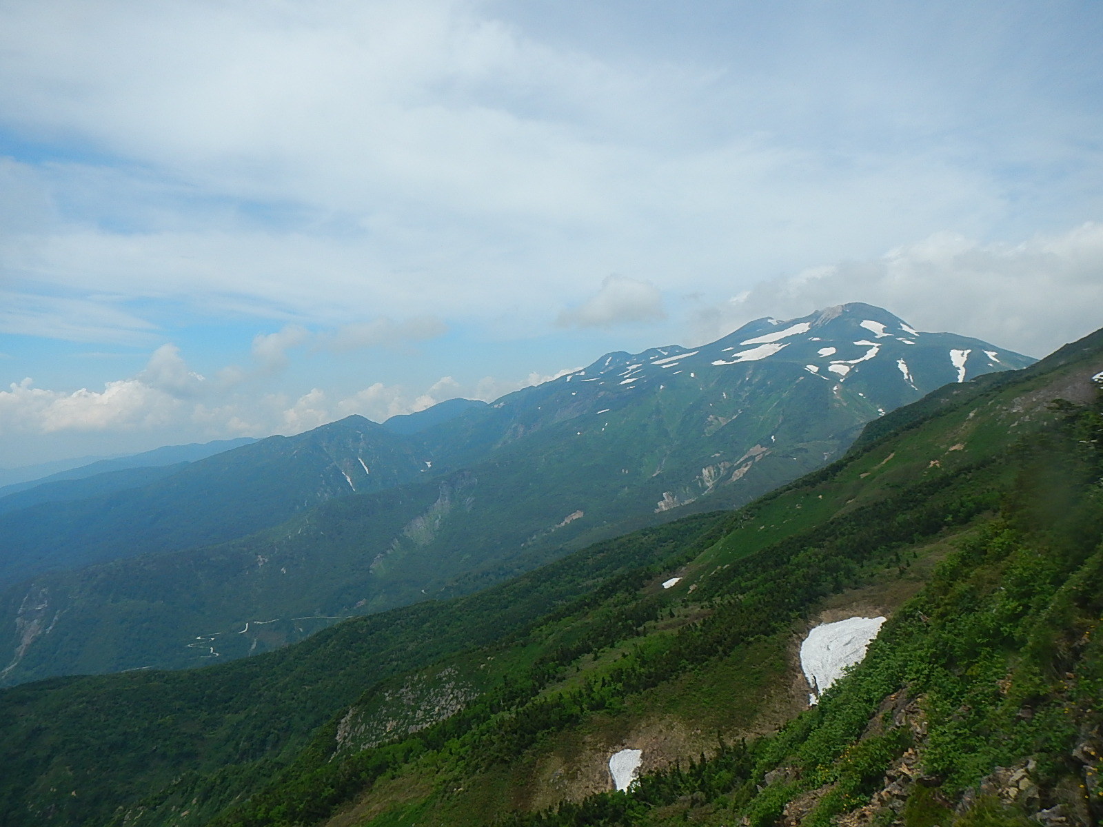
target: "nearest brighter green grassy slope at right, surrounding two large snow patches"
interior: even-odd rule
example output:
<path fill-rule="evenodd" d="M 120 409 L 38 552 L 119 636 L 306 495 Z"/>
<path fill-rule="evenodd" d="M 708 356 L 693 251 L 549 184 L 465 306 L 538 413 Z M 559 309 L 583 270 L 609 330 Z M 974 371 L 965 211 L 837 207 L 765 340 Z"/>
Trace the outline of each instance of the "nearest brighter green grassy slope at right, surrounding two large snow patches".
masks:
<path fill-rule="evenodd" d="M 438 663 L 405 695 L 370 692 L 215 824 L 933 825 L 955 808 L 962 824 L 1015 824 L 1052 806 L 1089 824 L 1099 345 L 901 415 L 634 593 Z M 663 590 L 668 573 L 683 580 Z M 863 611 L 891 616 L 869 657 L 795 715 L 794 641 Z M 379 731 L 405 720 L 388 702 L 416 705 L 409 687 L 429 698 L 490 657 L 512 659 L 510 680 L 470 684 L 474 700 L 411 735 Z M 622 747 L 651 772 L 601 792 Z"/>

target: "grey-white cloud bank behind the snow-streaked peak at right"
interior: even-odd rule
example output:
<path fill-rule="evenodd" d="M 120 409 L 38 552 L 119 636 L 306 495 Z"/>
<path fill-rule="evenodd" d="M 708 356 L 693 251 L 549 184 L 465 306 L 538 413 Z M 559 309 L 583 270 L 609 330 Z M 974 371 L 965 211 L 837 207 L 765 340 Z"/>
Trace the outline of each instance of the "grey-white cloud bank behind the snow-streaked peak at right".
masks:
<path fill-rule="evenodd" d="M 876 259 L 810 268 L 703 310 L 707 341 L 763 315 L 864 301 L 921 330 L 952 331 L 1043 356 L 1103 324 L 1103 224 L 1021 244 L 940 233 Z"/>

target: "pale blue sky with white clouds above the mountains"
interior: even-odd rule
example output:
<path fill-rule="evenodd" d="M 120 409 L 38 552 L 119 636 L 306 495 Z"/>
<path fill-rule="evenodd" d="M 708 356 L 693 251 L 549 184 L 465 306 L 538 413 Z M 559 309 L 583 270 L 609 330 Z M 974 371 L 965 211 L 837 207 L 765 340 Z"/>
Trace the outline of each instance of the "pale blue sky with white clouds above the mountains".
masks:
<path fill-rule="evenodd" d="M 0 468 L 847 301 L 1103 325 L 1103 3 L 0 0 Z"/>

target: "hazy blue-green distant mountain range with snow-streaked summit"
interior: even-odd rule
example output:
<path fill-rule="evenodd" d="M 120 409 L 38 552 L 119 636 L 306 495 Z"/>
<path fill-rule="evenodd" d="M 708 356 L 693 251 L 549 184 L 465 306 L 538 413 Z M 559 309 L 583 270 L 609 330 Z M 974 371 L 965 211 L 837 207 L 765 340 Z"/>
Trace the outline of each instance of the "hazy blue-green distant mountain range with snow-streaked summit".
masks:
<path fill-rule="evenodd" d="M 350 417 L 82 481 L 95 495 L 12 501 L 31 488 L 0 498 L 0 680 L 201 665 L 470 592 L 750 502 L 886 411 L 1031 362 L 847 304 L 607 354 L 493 405 Z"/>

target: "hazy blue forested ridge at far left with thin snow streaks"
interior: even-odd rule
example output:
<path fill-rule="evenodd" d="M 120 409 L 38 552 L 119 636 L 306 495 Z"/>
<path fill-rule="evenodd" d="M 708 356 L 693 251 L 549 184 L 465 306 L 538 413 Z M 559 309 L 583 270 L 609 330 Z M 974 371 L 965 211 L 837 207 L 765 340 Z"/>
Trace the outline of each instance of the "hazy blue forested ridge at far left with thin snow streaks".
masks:
<path fill-rule="evenodd" d="M 363 417 L 270 437 L 138 487 L 0 514 L 0 584 L 239 537 L 331 497 L 415 479 L 425 468 L 417 445 Z"/>

